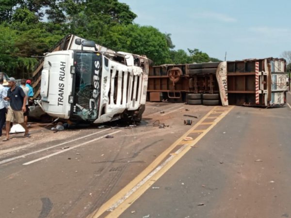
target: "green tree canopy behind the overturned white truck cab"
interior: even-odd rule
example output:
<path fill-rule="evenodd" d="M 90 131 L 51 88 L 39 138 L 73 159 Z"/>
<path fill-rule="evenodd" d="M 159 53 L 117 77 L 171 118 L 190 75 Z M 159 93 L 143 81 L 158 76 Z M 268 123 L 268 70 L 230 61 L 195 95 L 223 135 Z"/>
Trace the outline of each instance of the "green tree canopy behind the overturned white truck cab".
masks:
<path fill-rule="evenodd" d="M 209 62 L 197 48 L 174 50 L 170 33 L 140 26 L 129 5 L 118 0 L 1 0 L 0 71 L 30 78 L 42 56 L 66 34 L 94 40 L 116 51 L 146 55 L 156 65 Z"/>

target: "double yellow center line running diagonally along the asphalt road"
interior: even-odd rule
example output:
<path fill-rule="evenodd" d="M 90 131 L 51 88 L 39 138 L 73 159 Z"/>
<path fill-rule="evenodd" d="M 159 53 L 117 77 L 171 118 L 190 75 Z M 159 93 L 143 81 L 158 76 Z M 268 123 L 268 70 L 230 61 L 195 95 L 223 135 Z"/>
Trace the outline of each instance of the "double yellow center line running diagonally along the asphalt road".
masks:
<path fill-rule="evenodd" d="M 157 181 L 166 171 L 168 171 L 183 155 L 185 155 L 200 139 L 202 139 L 226 114 L 233 109 L 228 110 L 217 118 L 205 131 L 203 131 L 194 140 L 185 141 L 184 138 L 195 131 L 195 128 L 207 119 L 210 114 L 217 109 L 214 107 L 200 121 L 198 121 L 190 130 L 182 137 L 176 140 L 169 148 L 167 148 L 160 156 L 158 156 L 144 171 L 135 177 L 126 187 L 115 194 L 110 200 L 105 202 L 99 209 L 93 212 L 88 218 L 98 218 L 107 211 L 107 218 L 117 218 L 120 216 L 135 200 L 137 200 L 155 181 Z M 184 144 L 186 142 L 186 144 Z M 171 153 L 178 145 L 184 144 L 175 153 Z M 172 154 L 172 155 L 170 155 Z M 175 154 L 175 155 L 173 155 Z M 167 156 L 169 156 L 162 162 Z"/>

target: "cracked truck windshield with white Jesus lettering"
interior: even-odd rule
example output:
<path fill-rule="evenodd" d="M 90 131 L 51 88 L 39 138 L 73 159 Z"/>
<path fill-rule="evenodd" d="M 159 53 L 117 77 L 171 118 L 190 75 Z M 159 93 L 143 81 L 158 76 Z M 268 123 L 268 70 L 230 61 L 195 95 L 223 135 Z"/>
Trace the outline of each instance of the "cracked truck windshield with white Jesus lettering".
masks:
<path fill-rule="evenodd" d="M 101 66 L 99 53 L 76 53 L 73 114 L 84 121 L 94 121 L 98 117 Z"/>

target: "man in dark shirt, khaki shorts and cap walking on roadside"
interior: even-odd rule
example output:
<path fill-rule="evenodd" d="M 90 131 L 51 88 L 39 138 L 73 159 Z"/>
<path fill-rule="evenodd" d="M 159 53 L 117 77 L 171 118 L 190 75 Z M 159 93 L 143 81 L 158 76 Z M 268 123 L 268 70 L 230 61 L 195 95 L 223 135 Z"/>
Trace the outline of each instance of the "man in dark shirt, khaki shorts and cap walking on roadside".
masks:
<path fill-rule="evenodd" d="M 26 101 L 27 96 L 23 90 L 16 86 L 15 78 L 11 77 L 8 79 L 8 86 L 10 89 L 7 92 L 7 97 L 4 100 L 9 100 L 10 105 L 8 106 L 7 117 L 6 117 L 6 139 L 3 141 L 9 140 L 10 124 L 15 121 L 16 123 L 22 125 L 25 129 L 24 137 L 28 137 L 28 128 L 24 124 L 23 112 L 26 111 Z"/>

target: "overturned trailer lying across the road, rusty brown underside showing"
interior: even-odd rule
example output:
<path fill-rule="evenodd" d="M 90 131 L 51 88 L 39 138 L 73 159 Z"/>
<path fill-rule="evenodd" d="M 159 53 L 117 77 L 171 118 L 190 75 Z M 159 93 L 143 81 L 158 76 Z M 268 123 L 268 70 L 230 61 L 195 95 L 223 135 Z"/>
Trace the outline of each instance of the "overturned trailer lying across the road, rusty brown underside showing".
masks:
<path fill-rule="evenodd" d="M 286 76 L 286 61 L 277 58 L 153 66 L 147 100 L 282 106 L 286 103 Z"/>

